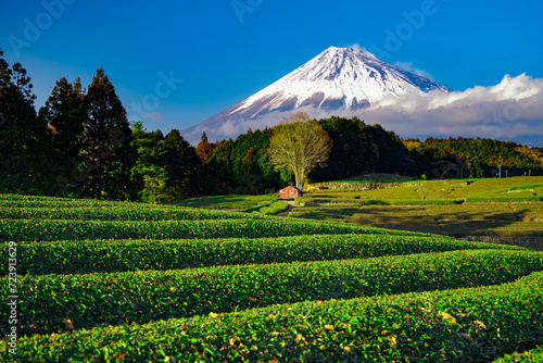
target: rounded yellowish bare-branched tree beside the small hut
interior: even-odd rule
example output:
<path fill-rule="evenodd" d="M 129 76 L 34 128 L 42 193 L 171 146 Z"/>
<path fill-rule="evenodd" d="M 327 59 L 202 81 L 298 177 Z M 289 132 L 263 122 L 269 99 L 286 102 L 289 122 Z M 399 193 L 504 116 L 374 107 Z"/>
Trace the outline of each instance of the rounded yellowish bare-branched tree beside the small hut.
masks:
<path fill-rule="evenodd" d="M 317 165 L 323 166 L 328 160 L 332 141 L 318 122 L 296 115 L 273 130 L 269 160 L 276 170 L 287 170 L 293 174 L 296 187 L 302 189 L 307 173 Z"/>

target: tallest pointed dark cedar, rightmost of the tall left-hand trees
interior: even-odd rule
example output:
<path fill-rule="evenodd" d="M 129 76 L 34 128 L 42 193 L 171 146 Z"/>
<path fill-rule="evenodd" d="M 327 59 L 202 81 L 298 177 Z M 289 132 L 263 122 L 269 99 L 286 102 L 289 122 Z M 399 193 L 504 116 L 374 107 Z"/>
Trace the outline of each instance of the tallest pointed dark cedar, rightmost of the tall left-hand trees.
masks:
<path fill-rule="evenodd" d="M 141 185 L 132 178 L 137 150 L 126 110 L 102 67 L 92 77 L 85 108 L 85 146 L 81 196 L 94 199 L 137 200 Z"/>

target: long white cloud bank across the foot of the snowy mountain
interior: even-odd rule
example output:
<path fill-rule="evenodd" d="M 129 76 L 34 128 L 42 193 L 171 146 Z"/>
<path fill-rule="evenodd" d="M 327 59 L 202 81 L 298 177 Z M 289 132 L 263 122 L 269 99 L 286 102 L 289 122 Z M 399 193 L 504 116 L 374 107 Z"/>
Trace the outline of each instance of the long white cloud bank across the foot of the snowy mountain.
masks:
<path fill-rule="evenodd" d="M 245 133 L 277 125 L 298 111 L 312 118 L 331 115 L 357 116 L 368 124 L 380 124 L 396 135 L 409 138 L 481 137 L 513 140 L 529 146 L 543 146 L 543 79 L 526 74 L 506 75 L 492 87 L 476 86 L 450 93 L 431 91 L 426 96 L 389 96 L 364 110 L 326 112 L 311 107 L 286 112 L 272 112 L 258 120 L 229 120 L 220 127 L 198 125 L 187 135 L 198 145 L 202 132 L 210 140 L 236 138 Z"/>

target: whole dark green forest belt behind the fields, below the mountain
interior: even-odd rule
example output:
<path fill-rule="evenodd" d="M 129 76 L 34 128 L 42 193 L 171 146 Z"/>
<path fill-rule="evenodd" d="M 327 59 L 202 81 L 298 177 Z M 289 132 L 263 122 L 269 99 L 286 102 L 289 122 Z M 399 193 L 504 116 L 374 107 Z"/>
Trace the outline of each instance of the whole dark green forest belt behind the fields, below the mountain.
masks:
<path fill-rule="evenodd" d="M 0 192 L 175 202 L 205 195 L 266 193 L 293 184 L 288 167 L 274 167 L 270 140 L 281 126 L 197 147 L 177 129 L 165 136 L 129 123 L 115 88 L 98 68 L 85 88 L 65 77 L 38 112 L 25 68 L 0 50 Z M 402 140 L 356 117 L 318 124 L 331 142 L 327 162 L 311 182 L 368 173 L 458 178 L 543 174 L 543 149 L 491 139 Z M 316 165 L 320 166 L 316 166 Z M 276 163 L 277 166 L 277 163 Z M 504 174 L 505 173 L 505 174 Z"/>

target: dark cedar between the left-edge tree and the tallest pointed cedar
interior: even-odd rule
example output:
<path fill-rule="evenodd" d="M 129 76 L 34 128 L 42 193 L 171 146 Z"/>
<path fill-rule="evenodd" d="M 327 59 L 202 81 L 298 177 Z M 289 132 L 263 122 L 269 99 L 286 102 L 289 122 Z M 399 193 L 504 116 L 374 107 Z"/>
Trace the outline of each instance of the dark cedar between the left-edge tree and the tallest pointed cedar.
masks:
<path fill-rule="evenodd" d="M 78 184 L 77 171 L 81 162 L 79 152 L 87 120 L 84 100 L 85 90 L 80 79 L 70 84 L 66 77 L 62 77 L 38 113 L 40 121 L 48 125 L 49 136 L 56 151 L 59 175 L 55 179 L 64 197 Z"/>

